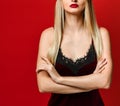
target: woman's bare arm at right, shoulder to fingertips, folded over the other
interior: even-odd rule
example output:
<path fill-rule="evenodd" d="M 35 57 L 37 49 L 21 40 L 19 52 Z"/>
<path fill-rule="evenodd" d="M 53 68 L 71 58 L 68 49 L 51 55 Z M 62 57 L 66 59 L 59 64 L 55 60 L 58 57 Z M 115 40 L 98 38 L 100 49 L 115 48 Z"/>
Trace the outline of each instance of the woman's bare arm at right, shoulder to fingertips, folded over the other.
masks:
<path fill-rule="evenodd" d="M 68 85 L 77 87 L 80 89 L 98 89 L 98 88 L 109 88 L 111 83 L 112 75 L 112 58 L 111 58 L 111 47 L 109 33 L 106 29 L 101 29 L 102 41 L 103 41 L 103 53 L 102 57 L 106 59 L 107 64 L 103 65 L 102 71 L 99 69 L 94 71 L 94 73 L 85 76 L 60 76 L 57 71 L 50 65 L 50 62 L 43 58 L 48 67 L 43 65 L 44 69 L 49 73 L 51 78 L 58 84 Z M 99 62 L 98 62 L 99 63 Z M 99 65 L 98 65 L 99 66 Z M 50 68 L 51 67 L 51 68 Z"/>

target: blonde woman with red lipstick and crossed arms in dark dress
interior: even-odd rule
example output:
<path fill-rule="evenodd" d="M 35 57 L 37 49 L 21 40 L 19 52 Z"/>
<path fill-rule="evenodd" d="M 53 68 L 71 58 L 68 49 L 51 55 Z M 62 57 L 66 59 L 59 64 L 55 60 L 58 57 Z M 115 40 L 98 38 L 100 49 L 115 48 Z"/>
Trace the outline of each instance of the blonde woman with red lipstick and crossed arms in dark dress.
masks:
<path fill-rule="evenodd" d="M 54 27 L 42 32 L 37 59 L 48 106 L 104 106 L 98 89 L 111 83 L 109 33 L 98 27 L 92 0 L 56 0 Z"/>

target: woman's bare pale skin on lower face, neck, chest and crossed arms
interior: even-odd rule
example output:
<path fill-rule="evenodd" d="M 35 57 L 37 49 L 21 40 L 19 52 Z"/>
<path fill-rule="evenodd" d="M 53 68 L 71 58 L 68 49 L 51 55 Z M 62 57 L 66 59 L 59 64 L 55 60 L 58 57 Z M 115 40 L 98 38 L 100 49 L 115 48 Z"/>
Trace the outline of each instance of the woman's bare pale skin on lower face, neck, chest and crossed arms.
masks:
<path fill-rule="evenodd" d="M 89 32 L 84 29 L 82 15 L 80 15 L 80 11 L 84 8 L 85 1 L 86 0 L 61 0 L 66 15 L 61 48 L 64 55 L 73 61 L 76 61 L 78 57 L 84 56 L 91 43 L 91 36 L 89 36 Z M 74 2 L 81 8 L 76 10 L 70 9 L 69 5 Z M 63 77 L 59 75 L 47 58 L 48 48 L 53 41 L 54 29 L 48 28 L 43 31 L 40 38 L 37 59 L 37 70 L 40 70 L 40 72 L 37 73 L 39 91 L 70 94 L 88 92 L 99 88 L 108 89 L 112 76 L 110 37 L 106 28 L 101 27 L 100 32 L 104 50 L 94 72 L 85 76 Z"/>

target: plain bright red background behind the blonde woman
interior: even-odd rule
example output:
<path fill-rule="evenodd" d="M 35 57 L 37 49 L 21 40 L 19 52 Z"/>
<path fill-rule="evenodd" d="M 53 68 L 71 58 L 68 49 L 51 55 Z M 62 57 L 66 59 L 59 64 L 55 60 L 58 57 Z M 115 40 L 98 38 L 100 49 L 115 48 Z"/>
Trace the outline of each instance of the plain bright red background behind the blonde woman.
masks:
<path fill-rule="evenodd" d="M 53 26 L 56 0 L 0 1 L 0 106 L 46 106 L 36 82 L 36 59 L 43 29 Z M 119 0 L 93 0 L 97 20 L 111 35 L 114 61 L 109 90 L 101 90 L 105 106 L 120 106 Z"/>

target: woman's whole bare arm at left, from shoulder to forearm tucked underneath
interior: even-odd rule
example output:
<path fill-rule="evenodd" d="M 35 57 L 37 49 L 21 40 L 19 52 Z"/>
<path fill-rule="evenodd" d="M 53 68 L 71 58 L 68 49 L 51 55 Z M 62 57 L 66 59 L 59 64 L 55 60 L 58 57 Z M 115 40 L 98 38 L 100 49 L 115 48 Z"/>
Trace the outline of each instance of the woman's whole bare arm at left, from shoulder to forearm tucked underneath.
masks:
<path fill-rule="evenodd" d="M 48 28 L 42 32 L 39 41 L 38 48 L 38 58 L 36 64 L 36 76 L 37 85 L 40 92 L 50 92 L 50 93 L 60 93 L 60 94 L 70 94 L 70 93 L 80 93 L 88 92 L 91 89 L 80 89 L 77 87 L 72 87 L 68 85 L 58 84 L 50 77 L 46 70 L 39 71 L 42 64 L 46 64 L 41 57 L 47 57 L 48 48 L 53 41 L 53 28 Z M 43 67 L 43 66 L 42 66 Z"/>

